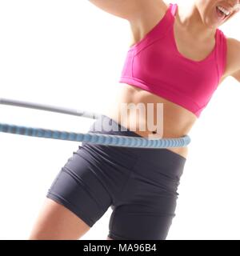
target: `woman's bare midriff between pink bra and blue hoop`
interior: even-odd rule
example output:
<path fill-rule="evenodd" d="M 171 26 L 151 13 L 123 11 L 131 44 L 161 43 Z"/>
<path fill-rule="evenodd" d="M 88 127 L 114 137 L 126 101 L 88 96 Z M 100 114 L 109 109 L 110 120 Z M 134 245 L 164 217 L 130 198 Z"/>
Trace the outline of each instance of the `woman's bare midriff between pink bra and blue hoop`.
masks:
<path fill-rule="evenodd" d="M 112 100 L 103 114 L 145 137 L 151 132 L 162 138 L 181 137 L 198 119 L 190 110 L 128 84 L 120 84 Z"/>

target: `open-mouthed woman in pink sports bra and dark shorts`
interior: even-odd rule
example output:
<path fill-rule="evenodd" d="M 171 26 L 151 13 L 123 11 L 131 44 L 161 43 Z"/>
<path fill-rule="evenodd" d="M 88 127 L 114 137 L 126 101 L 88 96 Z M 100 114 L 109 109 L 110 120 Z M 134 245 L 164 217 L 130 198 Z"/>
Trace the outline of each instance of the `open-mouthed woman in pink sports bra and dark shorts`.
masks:
<path fill-rule="evenodd" d="M 238 13 L 239 0 L 192 0 L 188 6 L 162 0 L 90 2 L 129 21 L 133 34 L 116 104 L 103 115 L 105 124 L 118 130 L 96 129 L 102 128 L 99 119 L 90 132 L 178 138 L 189 133 L 225 78 L 240 82 L 240 42 L 218 29 Z M 122 115 L 123 106 L 138 103 L 154 108 Z M 150 116 L 158 122 L 158 103 L 164 109 L 163 132 L 140 129 Z M 82 143 L 50 186 L 30 239 L 81 238 L 109 207 L 107 239 L 166 239 L 186 158 L 187 147 Z"/>

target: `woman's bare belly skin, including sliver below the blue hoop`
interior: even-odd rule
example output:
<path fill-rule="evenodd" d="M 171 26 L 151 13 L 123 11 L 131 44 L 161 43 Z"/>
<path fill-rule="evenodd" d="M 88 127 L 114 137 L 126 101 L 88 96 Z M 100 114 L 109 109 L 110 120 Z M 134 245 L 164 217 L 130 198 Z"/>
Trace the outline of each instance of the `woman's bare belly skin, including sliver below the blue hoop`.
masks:
<path fill-rule="evenodd" d="M 134 131 L 136 134 L 144 138 L 179 138 L 189 133 L 194 122 L 198 119 L 192 112 L 186 110 L 182 106 L 178 106 L 173 102 L 167 101 L 165 98 L 161 98 L 155 94 L 151 94 L 146 90 L 142 90 L 136 86 L 131 86 L 126 83 L 119 83 L 117 85 L 117 94 L 113 95 L 110 106 L 107 106 L 106 110 L 102 112 L 107 117 L 118 122 L 120 125 Z M 142 103 L 143 106 L 149 106 L 148 103 L 152 103 L 153 106 L 153 120 L 154 125 L 157 127 L 157 133 L 153 133 L 153 129 L 148 129 L 147 118 L 149 115 L 147 111 L 142 114 L 141 111 L 127 111 L 126 114 L 122 114 L 122 107 L 128 104 L 134 104 L 137 106 L 138 103 Z M 161 120 L 163 123 L 157 122 L 157 103 L 163 103 L 163 115 Z M 148 105 L 147 105 L 148 104 Z M 150 112 L 149 112 L 150 113 Z M 159 114 L 158 114 L 159 116 Z M 157 124 L 161 123 L 161 133 Z M 140 126 L 146 127 L 146 129 L 140 129 Z M 149 137 L 150 136 L 150 137 Z M 185 147 L 170 147 L 167 150 L 171 150 L 176 154 L 180 154 L 186 158 L 188 154 L 188 148 Z"/>

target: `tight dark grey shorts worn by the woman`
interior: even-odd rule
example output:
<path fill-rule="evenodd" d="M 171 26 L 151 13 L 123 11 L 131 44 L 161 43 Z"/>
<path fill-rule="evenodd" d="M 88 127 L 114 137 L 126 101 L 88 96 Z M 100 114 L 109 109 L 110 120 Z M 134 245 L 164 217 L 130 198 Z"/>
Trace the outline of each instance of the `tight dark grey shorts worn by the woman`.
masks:
<path fill-rule="evenodd" d="M 96 130 L 101 120 L 98 119 L 89 132 L 141 137 L 104 118 L 119 129 Z M 185 162 L 186 158 L 168 149 L 82 142 L 60 170 L 46 197 L 74 212 L 90 227 L 111 207 L 110 238 L 163 240 L 175 216 Z"/>

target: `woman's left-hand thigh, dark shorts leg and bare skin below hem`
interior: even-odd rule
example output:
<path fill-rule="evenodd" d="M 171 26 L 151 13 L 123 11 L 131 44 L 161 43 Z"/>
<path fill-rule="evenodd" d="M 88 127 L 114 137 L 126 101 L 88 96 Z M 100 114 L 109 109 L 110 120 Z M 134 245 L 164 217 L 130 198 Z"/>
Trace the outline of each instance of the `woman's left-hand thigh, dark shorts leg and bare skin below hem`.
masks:
<path fill-rule="evenodd" d="M 52 182 L 31 238 L 76 239 L 85 234 L 125 186 L 137 160 L 128 153 L 82 143 Z"/>

